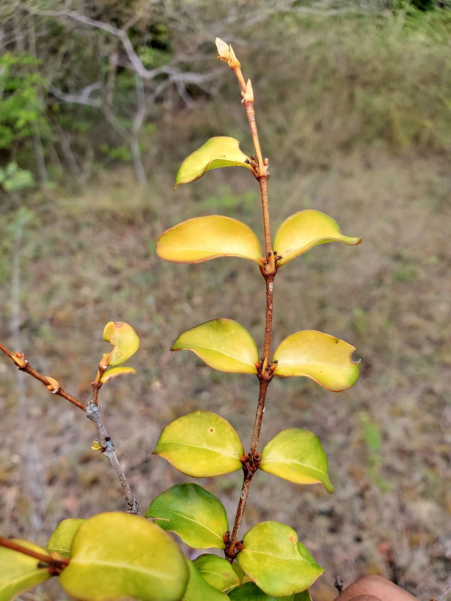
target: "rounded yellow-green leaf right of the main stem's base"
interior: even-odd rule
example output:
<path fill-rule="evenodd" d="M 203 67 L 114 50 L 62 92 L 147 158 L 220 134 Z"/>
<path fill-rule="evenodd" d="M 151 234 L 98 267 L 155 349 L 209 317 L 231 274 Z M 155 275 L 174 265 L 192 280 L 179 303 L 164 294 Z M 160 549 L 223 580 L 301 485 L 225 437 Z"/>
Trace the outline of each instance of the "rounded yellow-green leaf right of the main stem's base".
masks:
<path fill-rule="evenodd" d="M 302 593 L 324 572 L 298 543 L 298 535 L 280 522 L 262 522 L 244 535 L 239 566 L 268 595 Z"/>

